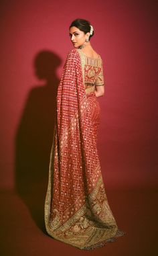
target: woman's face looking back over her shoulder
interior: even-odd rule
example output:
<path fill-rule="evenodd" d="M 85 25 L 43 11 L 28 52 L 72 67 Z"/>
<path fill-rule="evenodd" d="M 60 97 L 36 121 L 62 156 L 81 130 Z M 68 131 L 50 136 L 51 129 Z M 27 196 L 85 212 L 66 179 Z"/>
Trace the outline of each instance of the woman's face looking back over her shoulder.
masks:
<path fill-rule="evenodd" d="M 84 34 L 83 31 L 76 27 L 70 28 L 70 40 L 72 41 L 72 44 L 74 44 L 75 48 L 84 44 L 86 38 L 88 38 L 88 33 Z"/>

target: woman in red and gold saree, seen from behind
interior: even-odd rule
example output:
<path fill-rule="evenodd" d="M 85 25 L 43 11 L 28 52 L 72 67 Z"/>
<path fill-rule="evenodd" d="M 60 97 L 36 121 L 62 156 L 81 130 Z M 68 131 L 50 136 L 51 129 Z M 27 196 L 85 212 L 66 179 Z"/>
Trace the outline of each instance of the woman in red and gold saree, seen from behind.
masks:
<path fill-rule="evenodd" d="M 94 29 L 84 19 L 70 25 L 74 49 L 58 87 L 56 127 L 45 202 L 50 236 L 79 249 L 95 249 L 124 234 L 104 190 L 96 137 L 104 95 L 102 59 L 90 45 Z"/>

